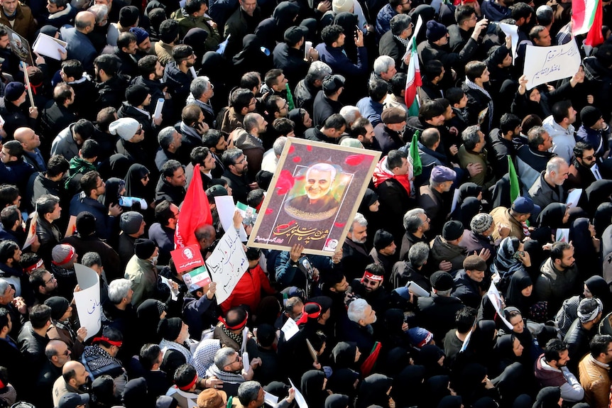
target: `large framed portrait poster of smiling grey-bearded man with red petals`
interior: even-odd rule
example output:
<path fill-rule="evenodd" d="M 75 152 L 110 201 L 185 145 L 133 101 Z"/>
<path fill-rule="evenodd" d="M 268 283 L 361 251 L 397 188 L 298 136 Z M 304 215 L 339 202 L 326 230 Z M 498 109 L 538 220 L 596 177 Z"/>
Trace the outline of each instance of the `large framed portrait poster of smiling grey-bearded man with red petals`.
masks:
<path fill-rule="evenodd" d="M 342 246 L 381 152 L 288 138 L 248 246 L 331 256 Z"/>

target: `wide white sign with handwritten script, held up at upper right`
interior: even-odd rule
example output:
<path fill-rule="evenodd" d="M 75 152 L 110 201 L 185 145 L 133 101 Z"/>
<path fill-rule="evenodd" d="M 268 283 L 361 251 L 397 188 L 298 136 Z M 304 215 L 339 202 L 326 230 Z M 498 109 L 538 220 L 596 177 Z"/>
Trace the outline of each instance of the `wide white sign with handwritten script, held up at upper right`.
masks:
<path fill-rule="evenodd" d="M 576 41 L 551 47 L 527 45 L 525 50 L 525 69 L 527 89 L 546 82 L 571 77 L 580 67 L 580 53 Z"/>

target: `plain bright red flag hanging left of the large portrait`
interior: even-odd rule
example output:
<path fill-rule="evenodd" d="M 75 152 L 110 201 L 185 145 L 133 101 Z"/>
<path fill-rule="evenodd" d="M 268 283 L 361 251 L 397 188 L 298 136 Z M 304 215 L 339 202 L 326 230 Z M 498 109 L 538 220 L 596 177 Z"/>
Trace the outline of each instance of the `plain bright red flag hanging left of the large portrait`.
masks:
<path fill-rule="evenodd" d="M 208 197 L 206 197 L 202 188 L 200 165 L 195 165 L 191 184 L 189 184 L 185 201 L 182 202 L 180 214 L 176 221 L 175 247 L 184 248 L 185 246 L 197 245 L 195 230 L 204 224 L 212 225 L 212 214 L 210 214 Z"/>

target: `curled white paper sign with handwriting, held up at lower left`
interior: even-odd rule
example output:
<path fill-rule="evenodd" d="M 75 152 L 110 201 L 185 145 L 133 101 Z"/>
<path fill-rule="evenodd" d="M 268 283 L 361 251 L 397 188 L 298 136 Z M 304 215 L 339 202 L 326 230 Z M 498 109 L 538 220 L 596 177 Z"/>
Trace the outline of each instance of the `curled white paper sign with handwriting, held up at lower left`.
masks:
<path fill-rule="evenodd" d="M 100 277 L 95 270 L 75 263 L 80 291 L 75 292 L 75 303 L 81 326 L 87 329 L 87 338 L 94 336 L 101 326 Z"/>

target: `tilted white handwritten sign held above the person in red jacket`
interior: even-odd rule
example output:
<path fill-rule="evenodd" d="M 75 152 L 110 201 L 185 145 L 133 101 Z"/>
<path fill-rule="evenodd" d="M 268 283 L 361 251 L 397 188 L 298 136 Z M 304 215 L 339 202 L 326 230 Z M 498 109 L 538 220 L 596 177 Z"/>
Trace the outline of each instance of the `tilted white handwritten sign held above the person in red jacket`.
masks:
<path fill-rule="evenodd" d="M 246 253 L 234 228 L 229 228 L 217 243 L 206 266 L 212 282 L 217 283 L 217 304 L 222 304 L 248 268 Z"/>

